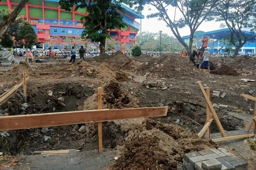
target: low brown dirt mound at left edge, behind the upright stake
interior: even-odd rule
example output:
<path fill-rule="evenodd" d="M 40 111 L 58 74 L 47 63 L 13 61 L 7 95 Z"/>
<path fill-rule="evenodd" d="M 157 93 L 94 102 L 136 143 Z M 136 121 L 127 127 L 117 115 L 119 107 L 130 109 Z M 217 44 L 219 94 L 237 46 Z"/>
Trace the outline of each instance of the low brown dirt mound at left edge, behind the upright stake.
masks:
<path fill-rule="evenodd" d="M 0 76 L 2 82 L 9 81 L 21 81 L 23 80 L 23 72 L 26 72 L 26 77 L 37 78 L 38 75 L 30 68 L 26 62 L 20 62 L 18 65 L 13 67 L 11 71 L 6 72 Z"/>

